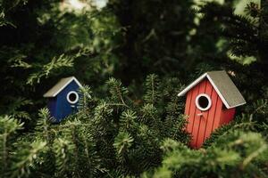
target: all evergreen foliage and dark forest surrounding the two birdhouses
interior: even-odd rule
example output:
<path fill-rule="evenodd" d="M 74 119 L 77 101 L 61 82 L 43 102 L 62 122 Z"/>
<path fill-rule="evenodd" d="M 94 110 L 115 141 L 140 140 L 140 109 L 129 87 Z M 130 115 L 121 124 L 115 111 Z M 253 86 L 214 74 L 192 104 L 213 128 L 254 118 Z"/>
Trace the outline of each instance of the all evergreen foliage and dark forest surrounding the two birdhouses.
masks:
<path fill-rule="evenodd" d="M 0 174 L 267 177 L 268 4 L 99 5 L 0 0 Z M 176 95 L 219 69 L 247 105 L 204 148 L 190 150 Z M 42 95 L 70 76 L 92 98 L 85 94 L 77 114 L 52 125 Z"/>

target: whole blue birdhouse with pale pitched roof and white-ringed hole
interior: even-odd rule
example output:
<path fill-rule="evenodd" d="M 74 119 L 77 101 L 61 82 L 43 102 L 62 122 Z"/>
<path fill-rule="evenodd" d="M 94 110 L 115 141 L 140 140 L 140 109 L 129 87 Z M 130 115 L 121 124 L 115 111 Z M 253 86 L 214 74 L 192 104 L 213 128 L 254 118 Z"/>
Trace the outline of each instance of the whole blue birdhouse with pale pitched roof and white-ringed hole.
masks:
<path fill-rule="evenodd" d="M 48 109 L 50 115 L 55 118 L 54 122 L 59 123 L 64 117 L 77 111 L 80 87 L 82 85 L 75 77 L 66 77 L 44 94 L 44 97 L 48 98 Z"/>

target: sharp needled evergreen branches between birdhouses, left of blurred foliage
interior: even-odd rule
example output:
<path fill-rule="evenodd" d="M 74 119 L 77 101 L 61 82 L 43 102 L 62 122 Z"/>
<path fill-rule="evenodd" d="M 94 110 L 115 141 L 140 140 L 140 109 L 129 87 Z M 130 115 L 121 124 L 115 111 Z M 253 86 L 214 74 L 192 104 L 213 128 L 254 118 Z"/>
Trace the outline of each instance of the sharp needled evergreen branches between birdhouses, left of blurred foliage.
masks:
<path fill-rule="evenodd" d="M 15 154 L 12 158 L 3 157 L 13 165 L 7 174 L 15 177 L 96 177 L 115 172 L 122 176 L 138 175 L 160 164 L 160 145 L 164 138 L 186 141 L 185 120 L 177 117 L 178 113 L 163 110 L 161 119 L 157 112 L 161 105 L 133 105 L 128 89 L 119 80 L 110 79 L 107 85 L 110 94 L 105 100 L 92 98 L 88 86 L 81 88 L 80 111 L 61 125 L 52 125 L 48 109 L 40 109 L 34 133 L 18 135 L 9 143 Z M 147 88 L 146 94 L 155 85 Z M 157 87 L 164 87 L 160 79 Z M 161 103 L 161 98 L 160 93 L 156 98 L 147 95 L 147 101 L 155 103 Z M 12 127 L 10 132 L 19 129 L 16 125 Z M 6 150 L 5 154 L 9 155 L 10 151 Z"/>

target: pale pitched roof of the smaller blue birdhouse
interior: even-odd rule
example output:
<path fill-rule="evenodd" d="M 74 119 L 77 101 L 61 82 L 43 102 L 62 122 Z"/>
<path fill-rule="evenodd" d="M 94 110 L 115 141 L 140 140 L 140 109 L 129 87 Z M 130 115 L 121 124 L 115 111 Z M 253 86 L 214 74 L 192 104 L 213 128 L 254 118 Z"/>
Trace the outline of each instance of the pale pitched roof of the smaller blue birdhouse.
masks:
<path fill-rule="evenodd" d="M 50 90 L 48 90 L 43 96 L 46 98 L 55 97 L 58 93 L 62 92 L 63 89 L 71 84 L 74 81 L 77 85 L 82 87 L 80 82 L 76 79 L 76 77 L 65 77 L 62 78 L 56 85 L 54 85 Z"/>

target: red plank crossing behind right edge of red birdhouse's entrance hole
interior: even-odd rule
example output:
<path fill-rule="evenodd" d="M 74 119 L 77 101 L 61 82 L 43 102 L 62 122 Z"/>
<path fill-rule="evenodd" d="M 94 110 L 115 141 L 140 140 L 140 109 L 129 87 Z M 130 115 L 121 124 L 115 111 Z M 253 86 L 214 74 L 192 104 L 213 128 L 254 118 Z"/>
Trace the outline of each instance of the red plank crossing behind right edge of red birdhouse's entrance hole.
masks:
<path fill-rule="evenodd" d="M 213 92 L 213 85 L 210 84 L 210 82 L 206 79 L 205 81 L 205 94 L 210 96 L 212 98 L 212 92 Z M 214 103 L 212 103 L 214 104 Z M 204 142 L 204 136 L 205 136 L 205 128 L 207 125 L 209 113 L 211 112 L 211 109 L 208 109 L 206 111 L 202 112 L 202 117 L 200 118 L 199 123 L 199 130 L 197 134 L 197 148 L 200 148 Z"/>

